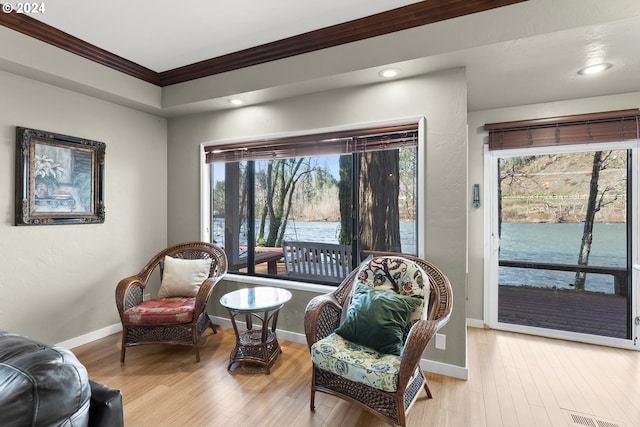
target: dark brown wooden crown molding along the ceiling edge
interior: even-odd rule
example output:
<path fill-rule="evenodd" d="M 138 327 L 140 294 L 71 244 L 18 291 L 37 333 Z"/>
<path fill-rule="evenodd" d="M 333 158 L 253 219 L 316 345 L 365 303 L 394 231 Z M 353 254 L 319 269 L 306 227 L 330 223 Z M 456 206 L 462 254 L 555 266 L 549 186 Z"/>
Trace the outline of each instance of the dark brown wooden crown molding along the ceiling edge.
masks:
<path fill-rule="evenodd" d="M 421 1 L 160 73 L 87 43 L 28 15 L 16 12 L 0 13 L 0 25 L 164 87 L 523 1 L 527 0 Z"/>

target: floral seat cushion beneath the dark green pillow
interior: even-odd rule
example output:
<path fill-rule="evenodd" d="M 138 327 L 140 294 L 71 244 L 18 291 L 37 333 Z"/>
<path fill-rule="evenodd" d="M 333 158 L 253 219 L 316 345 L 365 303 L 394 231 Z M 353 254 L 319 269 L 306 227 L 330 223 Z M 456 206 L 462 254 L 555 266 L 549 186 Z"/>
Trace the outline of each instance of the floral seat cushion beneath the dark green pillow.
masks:
<path fill-rule="evenodd" d="M 399 356 L 378 353 L 336 333 L 311 346 L 311 361 L 351 381 L 389 392 L 398 390 Z"/>

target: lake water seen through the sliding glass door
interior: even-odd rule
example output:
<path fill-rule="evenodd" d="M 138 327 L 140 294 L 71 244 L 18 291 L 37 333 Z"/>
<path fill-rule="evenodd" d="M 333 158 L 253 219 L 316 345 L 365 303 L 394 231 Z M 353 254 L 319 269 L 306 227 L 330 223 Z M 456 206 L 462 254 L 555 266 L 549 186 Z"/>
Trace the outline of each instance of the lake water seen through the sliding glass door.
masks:
<path fill-rule="evenodd" d="M 595 224 L 589 265 L 624 267 L 627 263 L 626 224 Z M 555 264 L 577 264 L 584 224 L 522 224 L 503 223 L 500 239 L 500 259 L 538 261 Z M 501 285 L 530 285 L 572 289 L 575 273 L 500 267 Z M 585 289 L 593 292 L 614 292 L 613 277 L 587 274 Z"/>

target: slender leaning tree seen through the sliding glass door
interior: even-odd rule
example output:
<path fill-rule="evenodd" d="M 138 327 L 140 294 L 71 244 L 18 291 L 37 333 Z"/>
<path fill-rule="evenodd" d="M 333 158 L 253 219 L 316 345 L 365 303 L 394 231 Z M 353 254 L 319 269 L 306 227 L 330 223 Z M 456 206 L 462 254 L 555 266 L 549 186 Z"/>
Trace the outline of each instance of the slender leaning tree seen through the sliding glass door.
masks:
<path fill-rule="evenodd" d="M 605 194 L 609 192 L 612 187 L 605 187 L 600 194 L 598 188 L 598 181 L 600 179 L 600 171 L 607 168 L 612 160 L 612 151 L 607 152 L 604 156 L 602 151 L 596 151 L 593 154 L 593 166 L 591 168 L 591 181 L 589 183 L 589 200 L 587 202 L 587 212 L 584 219 L 584 228 L 582 231 L 582 241 L 580 242 L 580 252 L 578 254 L 578 265 L 589 264 L 589 254 L 591 253 L 591 244 L 593 242 L 593 225 L 595 223 L 596 214 L 602 209 L 603 206 L 613 203 L 617 196 L 605 201 Z M 587 277 L 587 273 L 579 271 L 576 272 L 575 288 L 577 290 L 584 290 L 584 284 Z"/>

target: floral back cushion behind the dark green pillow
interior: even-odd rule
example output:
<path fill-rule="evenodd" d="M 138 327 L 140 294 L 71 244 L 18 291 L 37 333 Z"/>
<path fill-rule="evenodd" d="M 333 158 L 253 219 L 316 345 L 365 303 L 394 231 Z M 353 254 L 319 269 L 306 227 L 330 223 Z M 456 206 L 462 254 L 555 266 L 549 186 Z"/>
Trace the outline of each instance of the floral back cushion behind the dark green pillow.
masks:
<path fill-rule="evenodd" d="M 375 289 L 422 300 L 422 304 L 409 316 L 408 323 L 426 318 L 427 310 L 424 307 L 429 306 L 431 290 L 429 277 L 415 262 L 397 256 L 373 258 L 360 267 L 356 280 Z"/>

